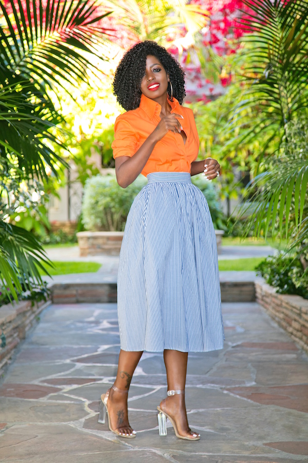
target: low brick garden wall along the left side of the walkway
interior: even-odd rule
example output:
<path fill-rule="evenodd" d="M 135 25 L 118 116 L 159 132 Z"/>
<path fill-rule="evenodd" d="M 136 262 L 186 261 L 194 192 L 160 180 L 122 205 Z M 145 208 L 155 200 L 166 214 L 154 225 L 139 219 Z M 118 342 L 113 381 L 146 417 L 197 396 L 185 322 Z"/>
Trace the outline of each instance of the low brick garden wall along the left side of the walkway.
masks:
<path fill-rule="evenodd" d="M 18 304 L 7 304 L 0 307 L 0 335 L 3 333 L 0 341 L 0 375 L 3 368 L 13 355 L 18 344 L 25 339 L 27 332 L 37 323 L 37 317 L 50 301 L 34 303 L 23 300 Z M 1 347 L 1 344 L 6 343 Z"/>

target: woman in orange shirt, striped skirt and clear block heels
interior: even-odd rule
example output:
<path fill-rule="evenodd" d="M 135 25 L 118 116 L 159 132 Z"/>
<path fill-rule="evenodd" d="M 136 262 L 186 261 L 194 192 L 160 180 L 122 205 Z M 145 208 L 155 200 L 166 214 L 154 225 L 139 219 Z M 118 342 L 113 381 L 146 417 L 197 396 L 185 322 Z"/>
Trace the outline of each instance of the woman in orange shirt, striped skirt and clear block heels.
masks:
<path fill-rule="evenodd" d="M 198 440 L 188 426 L 188 352 L 223 347 L 217 248 L 213 223 L 191 175 L 219 176 L 214 159 L 196 161 L 199 138 L 192 111 L 181 106 L 184 73 L 155 42 L 133 46 L 114 77 L 127 111 L 114 124 L 115 173 L 126 188 L 142 173 L 148 184 L 134 200 L 125 227 L 118 276 L 121 351 L 117 378 L 101 397 L 109 429 L 135 437 L 127 396 L 143 350 L 164 352 L 167 398 L 158 406 L 160 435 L 168 417 L 181 439 Z"/>

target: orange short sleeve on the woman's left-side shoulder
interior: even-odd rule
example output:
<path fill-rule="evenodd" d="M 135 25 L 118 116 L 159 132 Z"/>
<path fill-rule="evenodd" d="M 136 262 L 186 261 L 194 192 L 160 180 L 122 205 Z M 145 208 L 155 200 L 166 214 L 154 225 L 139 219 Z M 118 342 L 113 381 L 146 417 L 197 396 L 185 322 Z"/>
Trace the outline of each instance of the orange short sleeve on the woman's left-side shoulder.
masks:
<path fill-rule="evenodd" d="M 137 133 L 131 126 L 130 122 L 123 118 L 123 115 L 118 116 L 114 123 L 114 140 L 111 148 L 113 157 L 133 156 L 138 150 Z"/>

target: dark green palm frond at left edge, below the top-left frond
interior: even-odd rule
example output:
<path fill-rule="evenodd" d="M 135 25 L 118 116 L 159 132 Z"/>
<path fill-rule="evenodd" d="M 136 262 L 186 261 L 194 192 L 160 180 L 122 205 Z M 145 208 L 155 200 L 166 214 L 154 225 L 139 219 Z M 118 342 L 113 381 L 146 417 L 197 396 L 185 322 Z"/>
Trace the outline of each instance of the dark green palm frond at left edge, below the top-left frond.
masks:
<path fill-rule="evenodd" d="M 66 162 L 51 149 L 65 148 L 59 137 L 50 132 L 62 121 L 48 96 L 37 90 L 30 80 L 3 69 L 0 65 L 0 155 L 14 153 L 18 167 L 26 176 L 45 176 L 49 166 Z M 59 133 L 59 131 L 58 131 Z"/>

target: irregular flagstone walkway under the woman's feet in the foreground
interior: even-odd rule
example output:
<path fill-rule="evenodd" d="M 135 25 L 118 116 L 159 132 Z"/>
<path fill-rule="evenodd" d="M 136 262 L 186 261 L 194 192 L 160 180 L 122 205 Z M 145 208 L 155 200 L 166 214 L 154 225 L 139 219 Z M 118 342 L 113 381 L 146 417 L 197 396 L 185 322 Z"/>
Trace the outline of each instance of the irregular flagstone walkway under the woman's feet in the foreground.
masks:
<path fill-rule="evenodd" d="M 189 354 L 186 403 L 201 439 L 159 437 L 162 354 L 145 353 L 129 393 L 136 439 L 98 420 L 119 353 L 114 304 L 53 305 L 0 385 L 0 461 L 292 463 L 308 461 L 308 362 L 256 303 L 223 304 L 221 351 Z M 169 423 L 170 424 L 170 423 Z"/>

